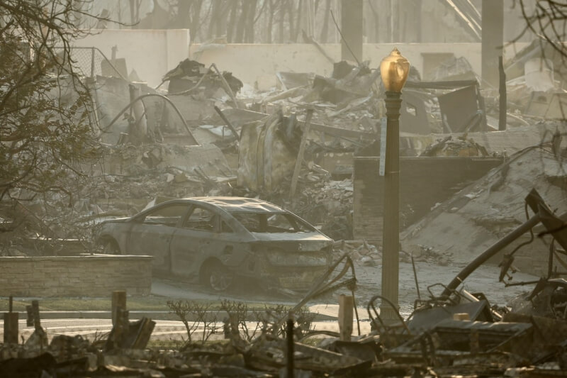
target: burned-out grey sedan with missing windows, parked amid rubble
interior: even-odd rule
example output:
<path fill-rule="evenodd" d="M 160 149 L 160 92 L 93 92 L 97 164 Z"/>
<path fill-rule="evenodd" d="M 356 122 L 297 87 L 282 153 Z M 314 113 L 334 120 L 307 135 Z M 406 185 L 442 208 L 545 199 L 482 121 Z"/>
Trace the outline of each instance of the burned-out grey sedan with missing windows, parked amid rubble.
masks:
<path fill-rule="evenodd" d="M 332 239 L 279 206 L 241 197 L 174 199 L 101 223 L 107 253 L 151 255 L 156 272 L 224 291 L 235 277 L 308 289 L 330 266 Z"/>

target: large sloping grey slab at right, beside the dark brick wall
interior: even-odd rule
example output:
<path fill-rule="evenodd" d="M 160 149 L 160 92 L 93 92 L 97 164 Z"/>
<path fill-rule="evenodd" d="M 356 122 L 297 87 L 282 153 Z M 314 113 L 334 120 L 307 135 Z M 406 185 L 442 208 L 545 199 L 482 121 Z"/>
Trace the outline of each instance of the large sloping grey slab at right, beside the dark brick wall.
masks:
<path fill-rule="evenodd" d="M 567 211 L 563 186 L 550 180 L 565 169 L 561 158 L 539 146 L 512 155 L 502 167 L 462 189 L 405 230 L 402 248 L 427 245 L 440 252 L 452 252 L 456 264 L 466 263 L 525 221 L 524 197 L 533 187 L 544 193 L 558 213 Z M 527 240 L 529 235 L 524 235 L 503 253 Z M 515 265 L 523 272 L 546 274 L 548 255 L 549 246 L 534 240 L 517 252 Z M 501 255 L 493 263 L 500 260 Z"/>

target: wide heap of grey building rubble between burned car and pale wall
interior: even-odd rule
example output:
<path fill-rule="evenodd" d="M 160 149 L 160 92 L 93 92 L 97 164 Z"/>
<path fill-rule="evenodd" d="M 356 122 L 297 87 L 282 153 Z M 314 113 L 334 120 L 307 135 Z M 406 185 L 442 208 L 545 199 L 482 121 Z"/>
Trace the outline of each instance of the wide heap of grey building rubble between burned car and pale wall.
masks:
<path fill-rule="evenodd" d="M 507 126 L 512 129 L 501 133 L 498 145 L 488 143 L 496 136 L 486 136 L 498 130 L 497 94 L 480 88 L 466 59 L 442 62 L 428 73 L 430 82 L 412 67 L 400 116 L 400 151 L 422 157 L 488 157 L 521 149 L 506 135 L 520 135 L 523 129 L 532 133 L 532 120 L 561 113 L 563 83 L 549 74 L 553 64 L 561 71 L 555 57 L 539 75 L 528 70 L 541 49 L 549 52 L 549 46 L 532 44 L 506 63 Z M 82 193 L 89 209 L 79 204 L 88 210 L 82 216 L 118 213 L 125 207 L 120 200 L 128 200 L 122 215 L 131 215 L 157 197 L 238 194 L 295 211 L 337 240 L 352 239 L 352 160 L 380 139 L 385 115 L 380 70 L 369 62 L 342 61 L 330 77 L 301 72 L 276 76 L 281 88 L 260 93 L 215 65 L 186 59 L 164 74 L 167 90 L 97 78 L 95 118 L 108 153 L 101 169 L 90 169 L 93 183 Z M 544 86 L 535 85 L 537 77 Z M 313 113 L 303 138 L 307 109 Z M 432 135 L 438 132 L 446 134 Z M 298 156 L 302 138 L 305 152 Z M 254 147 L 259 141 L 263 148 Z M 505 143 L 510 144 L 507 151 Z M 274 177 L 264 177 L 266 185 L 254 184 L 262 178 L 253 172 L 271 158 L 271 167 L 263 170 Z M 298 161 L 298 189 L 291 194 Z M 133 201 L 140 204 L 130 206 Z"/>

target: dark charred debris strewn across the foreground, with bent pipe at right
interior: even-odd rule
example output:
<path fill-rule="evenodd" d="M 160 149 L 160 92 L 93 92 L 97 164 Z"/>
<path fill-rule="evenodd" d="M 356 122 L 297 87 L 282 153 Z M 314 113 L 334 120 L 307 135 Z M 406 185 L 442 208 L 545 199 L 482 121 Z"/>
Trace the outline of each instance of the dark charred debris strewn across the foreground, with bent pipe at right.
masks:
<path fill-rule="evenodd" d="M 550 219 L 554 216 L 536 192 L 530 194 L 527 202 L 542 211 L 537 221 L 542 220 L 546 226 L 553 227 Z M 526 228 L 523 231 L 527 232 Z M 563 243 L 565 230 L 561 232 L 552 228 L 550 231 L 557 243 Z M 497 243 L 498 248 L 502 248 L 507 239 Z M 489 250 L 493 253 L 496 245 Z M 485 260 L 487 252 L 476 261 Z M 28 321 L 35 323 L 35 333 L 41 329 L 45 341 L 30 341 L 37 339 L 33 333 L 26 345 L 4 343 L 0 350 L 4 356 L 0 372 L 41 373 L 51 377 L 55 374 L 114 377 L 125 372 L 133 377 L 144 374 L 157 374 L 159 377 L 178 377 L 179 374 L 274 377 L 284 371 L 287 374 L 293 371 L 296 376 L 490 374 L 505 377 L 517 372 L 554 374 L 566 369 L 567 286 L 563 279 L 541 279 L 529 295 L 521 296 L 503 308 L 491 306 L 490 299 L 484 294 L 471 293 L 461 287 L 466 276 L 459 274 L 454 280 L 457 284 L 451 282 L 427 287 L 427 295 L 415 301 L 412 313 L 407 318 L 398 314 L 394 323 L 384 321 L 381 311 L 378 311 L 379 304 L 389 301 L 374 296 L 366 306 L 368 320 L 365 321 L 371 323 L 371 330 L 368 334 L 361 334 L 359 328 L 358 336 L 351 334 L 353 328 L 356 329 L 357 324 L 359 326 L 362 314 L 355 311 L 357 307 L 353 296 L 340 296 L 339 306 L 343 307 L 342 312 L 339 311 L 339 328 L 342 332 L 332 338 L 329 333 L 320 338 L 320 332 L 309 326 L 313 318 L 303 318 L 304 313 L 300 316 L 301 306 L 337 287 L 356 292 L 357 279 L 352 260 L 348 257 L 342 260 L 344 267 L 335 265 L 329 270 L 341 268 L 342 272 L 322 277 L 291 310 L 278 308 L 267 311 L 266 308 L 266 312 L 254 312 L 256 329 L 247 327 L 249 309 L 244 304 L 223 301 L 220 309 L 227 316 L 222 327 L 215 323 L 218 318 L 210 318 L 213 311 L 208 306 L 181 302 L 169 304 L 186 323 L 188 332 L 195 332 L 198 322 L 203 322 L 204 327 L 202 340 L 191 342 L 190 338 L 189 343 L 176 352 L 145 350 L 155 323 L 147 318 L 128 322 L 123 292 L 113 293 L 113 306 L 116 307 L 113 308 L 113 313 L 116 313 L 114 326 L 106 343 L 98 344 L 77 335 L 55 336 L 47 345 L 45 330 L 40 328 L 38 302 L 34 301 L 30 306 L 33 316 Z M 478 264 L 473 263 L 464 271 L 473 272 L 475 267 Z M 344 272 L 348 270 L 352 272 L 351 279 L 339 282 L 339 279 L 346 278 Z M 356 313 L 356 323 L 353 323 L 353 312 Z M 190 320 L 191 313 L 198 316 L 196 321 Z M 290 317 L 291 313 L 296 313 L 296 317 Z M 190 322 L 193 326 L 189 326 Z M 345 325 L 350 325 L 350 328 L 345 328 Z M 188 335 L 191 336 L 191 333 Z M 224 341 L 205 343 L 215 334 L 223 335 Z M 305 343 L 308 339 L 312 342 Z M 35 346 L 32 348 L 32 345 Z"/>

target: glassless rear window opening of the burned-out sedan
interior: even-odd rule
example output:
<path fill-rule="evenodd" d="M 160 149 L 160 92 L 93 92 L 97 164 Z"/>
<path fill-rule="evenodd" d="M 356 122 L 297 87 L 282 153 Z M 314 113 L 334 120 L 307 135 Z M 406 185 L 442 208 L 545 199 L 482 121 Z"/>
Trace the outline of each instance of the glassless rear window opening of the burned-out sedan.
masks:
<path fill-rule="evenodd" d="M 303 221 L 293 213 L 288 211 L 278 212 L 253 212 L 253 211 L 234 211 L 230 215 L 242 225 L 250 233 L 317 233 L 318 230 L 310 225 L 308 222 Z M 278 217 L 275 219 L 274 217 Z M 288 227 L 280 227 L 276 225 L 276 221 L 281 221 L 281 218 L 288 221 Z M 255 219 L 254 219 L 255 218 Z"/>

